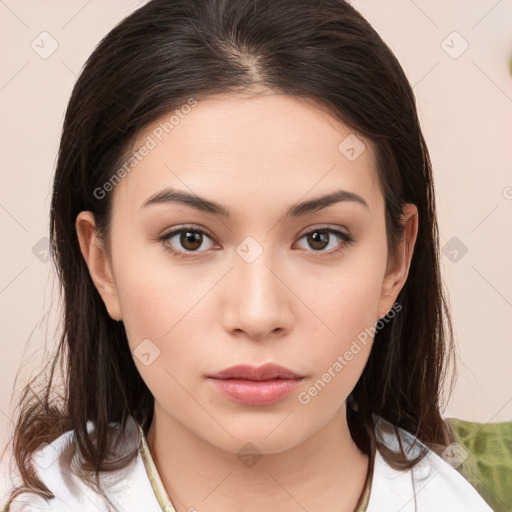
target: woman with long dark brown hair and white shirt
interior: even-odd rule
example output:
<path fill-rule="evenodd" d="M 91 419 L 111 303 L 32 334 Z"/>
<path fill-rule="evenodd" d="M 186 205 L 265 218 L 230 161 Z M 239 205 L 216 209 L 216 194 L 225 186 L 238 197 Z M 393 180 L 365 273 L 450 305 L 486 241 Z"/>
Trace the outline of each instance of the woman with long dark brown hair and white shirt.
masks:
<path fill-rule="evenodd" d="M 51 241 L 65 392 L 24 397 L 11 510 L 491 510 L 441 415 L 414 96 L 349 4 L 123 20 L 69 102 Z"/>

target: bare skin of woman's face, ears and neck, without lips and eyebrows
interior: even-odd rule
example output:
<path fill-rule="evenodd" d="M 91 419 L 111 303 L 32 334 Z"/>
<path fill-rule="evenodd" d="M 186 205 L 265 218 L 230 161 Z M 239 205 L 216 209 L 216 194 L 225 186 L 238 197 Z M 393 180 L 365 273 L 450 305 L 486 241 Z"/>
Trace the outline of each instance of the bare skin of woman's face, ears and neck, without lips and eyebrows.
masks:
<path fill-rule="evenodd" d="M 309 403 L 298 395 L 393 306 L 407 279 L 418 218 L 406 205 L 404 236 L 388 261 L 370 143 L 355 161 L 338 149 L 351 133 L 311 101 L 275 93 L 209 97 L 111 192 L 110 251 L 95 235 L 91 212 L 76 219 L 91 277 L 109 315 L 124 322 L 131 350 L 150 339 L 160 351 L 148 366 L 134 361 L 155 397 L 147 440 L 178 512 L 356 506 L 368 457 L 350 436 L 345 400 L 371 338 Z M 169 186 L 221 203 L 233 218 L 171 203 L 141 208 Z M 338 202 L 284 217 L 291 205 L 338 189 L 361 195 L 368 209 Z M 179 235 L 158 240 L 189 225 L 213 235 L 196 253 Z M 304 235 L 325 226 L 354 242 L 344 245 L 331 234 L 315 250 Z M 236 251 L 246 237 L 262 250 L 251 263 Z M 193 257 L 173 256 L 166 245 Z M 234 364 L 265 362 L 304 375 L 299 389 L 276 404 L 250 406 L 206 381 Z M 248 442 L 262 454 L 250 467 L 237 457 Z"/>

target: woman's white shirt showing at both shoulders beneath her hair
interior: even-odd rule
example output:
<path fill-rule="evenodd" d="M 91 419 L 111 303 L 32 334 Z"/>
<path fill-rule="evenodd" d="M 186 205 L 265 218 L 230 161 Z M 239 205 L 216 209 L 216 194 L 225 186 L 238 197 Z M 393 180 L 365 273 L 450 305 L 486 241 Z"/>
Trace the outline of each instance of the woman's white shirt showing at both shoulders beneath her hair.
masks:
<path fill-rule="evenodd" d="M 379 418 L 377 436 L 388 447 L 397 450 L 398 439 L 389 426 Z M 92 422 L 87 427 L 90 432 Z M 408 432 L 399 431 L 406 452 L 411 456 L 424 446 Z M 173 512 L 174 507 L 156 472 L 142 429 L 133 418 L 128 421 L 125 441 L 123 453 L 136 451 L 137 456 L 122 470 L 100 473 L 103 488 L 113 504 L 122 512 Z M 77 467 L 78 460 L 72 431 L 62 434 L 51 444 L 43 444 L 34 453 L 34 460 L 38 476 L 55 495 L 55 499 L 46 502 L 33 493 L 24 493 L 14 498 L 9 512 L 107 510 L 104 499 L 70 470 L 70 467 Z M 156 480 L 156 491 L 144 460 Z M 2 469 L 6 471 L 5 467 Z M 11 477 L 13 474 L 14 471 L 11 471 Z M 9 480 L 12 481 L 12 478 Z M 163 493 L 161 499 L 164 503 L 167 501 L 166 506 L 160 506 L 155 492 Z M 433 451 L 428 450 L 425 458 L 412 469 L 399 471 L 389 466 L 377 450 L 367 512 L 398 511 L 492 512 L 492 509 L 454 467 Z"/>

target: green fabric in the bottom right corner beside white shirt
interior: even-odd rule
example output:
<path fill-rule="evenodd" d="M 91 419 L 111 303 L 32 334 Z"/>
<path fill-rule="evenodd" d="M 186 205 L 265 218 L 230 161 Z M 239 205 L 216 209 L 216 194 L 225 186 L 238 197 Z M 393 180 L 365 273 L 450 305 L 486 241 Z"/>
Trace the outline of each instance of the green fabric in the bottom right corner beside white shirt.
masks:
<path fill-rule="evenodd" d="M 512 511 L 512 421 L 446 418 L 467 458 L 456 469 L 494 512 Z"/>

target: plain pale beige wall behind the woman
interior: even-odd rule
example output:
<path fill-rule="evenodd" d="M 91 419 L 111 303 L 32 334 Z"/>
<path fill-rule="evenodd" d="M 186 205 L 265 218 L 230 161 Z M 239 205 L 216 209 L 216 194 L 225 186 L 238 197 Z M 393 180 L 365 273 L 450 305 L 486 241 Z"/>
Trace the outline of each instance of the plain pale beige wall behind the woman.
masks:
<path fill-rule="evenodd" d="M 60 315 L 44 244 L 66 103 L 94 46 L 141 3 L 0 1 L 2 448 L 12 431 L 18 369 L 23 366 L 25 379 L 39 367 L 47 324 L 51 339 Z M 510 420 L 512 3 L 352 3 L 395 52 L 414 86 L 432 156 L 441 241 L 448 244 L 442 265 L 459 345 L 459 380 L 445 414 Z M 469 46 L 458 55 L 465 41 Z M 58 48 L 42 58 L 52 44 Z"/>

